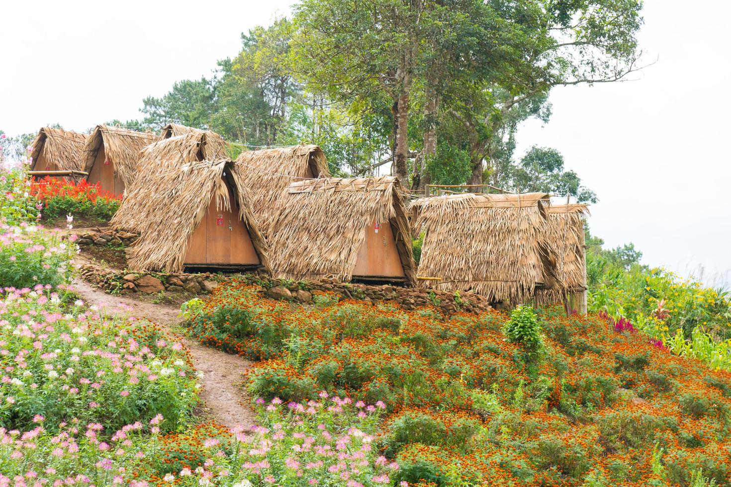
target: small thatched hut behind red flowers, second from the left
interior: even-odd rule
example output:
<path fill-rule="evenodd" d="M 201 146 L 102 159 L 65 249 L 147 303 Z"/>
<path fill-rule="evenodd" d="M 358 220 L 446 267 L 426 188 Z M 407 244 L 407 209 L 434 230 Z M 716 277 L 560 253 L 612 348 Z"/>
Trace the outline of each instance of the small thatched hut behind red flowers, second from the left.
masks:
<path fill-rule="evenodd" d="M 89 183 L 99 183 L 104 191 L 122 194 L 137 175 L 140 150 L 159 140 L 151 132 L 97 125 L 84 146 L 84 171 Z"/>

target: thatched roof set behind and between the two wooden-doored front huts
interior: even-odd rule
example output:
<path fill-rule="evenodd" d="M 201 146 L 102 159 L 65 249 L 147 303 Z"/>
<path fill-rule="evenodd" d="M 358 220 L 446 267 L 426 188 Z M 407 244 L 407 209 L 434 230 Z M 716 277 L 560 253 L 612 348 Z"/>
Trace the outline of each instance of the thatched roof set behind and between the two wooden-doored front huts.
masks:
<path fill-rule="evenodd" d="M 317 145 L 246 150 L 238 156 L 236 163 L 246 175 L 254 196 L 254 215 L 265 235 L 276 216 L 273 204 L 289 183 L 308 177 L 330 177 L 325 155 Z"/>

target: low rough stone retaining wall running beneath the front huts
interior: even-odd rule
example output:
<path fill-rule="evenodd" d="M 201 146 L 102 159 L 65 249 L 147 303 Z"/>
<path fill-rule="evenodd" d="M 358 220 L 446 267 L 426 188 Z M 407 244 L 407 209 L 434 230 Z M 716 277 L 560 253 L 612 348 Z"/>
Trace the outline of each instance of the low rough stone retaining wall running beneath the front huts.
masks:
<path fill-rule="evenodd" d="M 229 278 L 246 280 L 259 285 L 265 296 L 293 302 L 309 303 L 313 295 L 332 292 L 348 299 L 363 301 L 394 301 L 411 310 L 420 306 L 434 306 L 446 313 L 455 311 L 481 312 L 491 309 L 485 296 L 469 292 L 454 293 L 424 288 L 402 288 L 397 285 L 368 285 L 340 283 L 337 280 L 321 279 L 299 281 L 270 279 L 262 275 L 220 275 L 202 274 L 162 274 L 156 272 L 110 272 L 93 264 L 81 267 L 81 276 L 99 285 L 106 291 L 120 294 L 159 291 L 186 292 L 189 294 L 208 294 Z M 225 285 L 225 284 L 224 284 Z"/>

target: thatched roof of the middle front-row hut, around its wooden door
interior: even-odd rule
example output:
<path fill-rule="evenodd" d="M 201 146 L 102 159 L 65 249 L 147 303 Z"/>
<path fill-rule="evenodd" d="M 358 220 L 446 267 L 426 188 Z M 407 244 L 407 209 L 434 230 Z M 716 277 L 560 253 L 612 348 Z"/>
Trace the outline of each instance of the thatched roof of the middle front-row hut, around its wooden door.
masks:
<path fill-rule="evenodd" d="M 411 230 L 404 188 L 390 176 L 303 180 L 282 193 L 270 223 L 274 275 L 350 280 L 366 227 L 390 222 L 409 283 L 414 282 Z"/>

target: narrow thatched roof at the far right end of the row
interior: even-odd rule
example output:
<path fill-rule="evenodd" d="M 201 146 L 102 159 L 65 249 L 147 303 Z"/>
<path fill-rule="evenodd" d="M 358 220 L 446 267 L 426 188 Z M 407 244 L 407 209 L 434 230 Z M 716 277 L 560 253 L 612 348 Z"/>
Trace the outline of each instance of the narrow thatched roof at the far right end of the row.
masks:
<path fill-rule="evenodd" d="M 584 217 L 586 204 L 560 204 L 548 208 L 548 239 L 556 248 L 556 275 L 569 291 L 586 287 Z"/>

